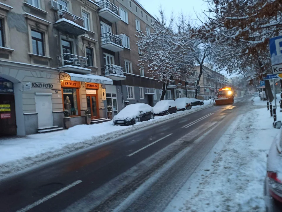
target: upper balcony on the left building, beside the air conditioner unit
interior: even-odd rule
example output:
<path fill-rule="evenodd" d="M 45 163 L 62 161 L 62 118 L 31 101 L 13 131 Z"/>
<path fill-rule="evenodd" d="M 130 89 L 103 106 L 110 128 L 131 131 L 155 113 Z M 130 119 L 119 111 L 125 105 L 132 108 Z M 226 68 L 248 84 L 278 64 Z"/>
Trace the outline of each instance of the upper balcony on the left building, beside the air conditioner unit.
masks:
<path fill-rule="evenodd" d="M 62 32 L 75 36 L 87 32 L 87 29 L 84 28 L 84 20 L 64 9 L 58 11 L 57 21 L 54 23 L 54 27 Z"/>

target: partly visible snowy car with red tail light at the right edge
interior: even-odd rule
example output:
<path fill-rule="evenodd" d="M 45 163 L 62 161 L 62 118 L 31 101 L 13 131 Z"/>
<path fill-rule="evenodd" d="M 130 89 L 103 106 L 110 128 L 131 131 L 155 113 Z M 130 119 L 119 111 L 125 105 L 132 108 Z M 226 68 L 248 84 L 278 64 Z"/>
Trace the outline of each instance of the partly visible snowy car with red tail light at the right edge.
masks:
<path fill-rule="evenodd" d="M 268 153 L 264 197 L 267 212 L 282 211 L 282 128 Z"/>

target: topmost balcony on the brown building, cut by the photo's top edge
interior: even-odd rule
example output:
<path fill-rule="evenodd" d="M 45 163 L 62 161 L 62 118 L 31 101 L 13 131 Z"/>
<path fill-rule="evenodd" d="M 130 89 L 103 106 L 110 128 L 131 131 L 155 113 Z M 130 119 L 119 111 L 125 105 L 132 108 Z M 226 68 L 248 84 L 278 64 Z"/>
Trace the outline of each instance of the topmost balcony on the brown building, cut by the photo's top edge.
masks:
<path fill-rule="evenodd" d="M 121 20 L 121 16 L 119 15 L 119 8 L 109 0 L 101 1 L 99 3 L 99 6 L 101 8 L 98 12 L 99 16 L 112 23 Z"/>

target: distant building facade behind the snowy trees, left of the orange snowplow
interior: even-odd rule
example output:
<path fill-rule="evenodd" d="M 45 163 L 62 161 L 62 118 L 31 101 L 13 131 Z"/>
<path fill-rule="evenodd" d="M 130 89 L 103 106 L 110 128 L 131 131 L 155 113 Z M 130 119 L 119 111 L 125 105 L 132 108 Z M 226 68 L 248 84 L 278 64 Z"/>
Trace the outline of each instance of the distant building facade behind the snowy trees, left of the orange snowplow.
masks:
<path fill-rule="evenodd" d="M 197 79 L 200 73 L 200 66 L 194 68 L 194 83 L 196 85 Z M 203 74 L 201 76 L 198 85 L 197 96 L 208 100 L 211 96 L 216 96 L 219 88 L 229 85 L 227 78 L 216 71 L 213 71 L 210 67 L 203 65 Z"/>

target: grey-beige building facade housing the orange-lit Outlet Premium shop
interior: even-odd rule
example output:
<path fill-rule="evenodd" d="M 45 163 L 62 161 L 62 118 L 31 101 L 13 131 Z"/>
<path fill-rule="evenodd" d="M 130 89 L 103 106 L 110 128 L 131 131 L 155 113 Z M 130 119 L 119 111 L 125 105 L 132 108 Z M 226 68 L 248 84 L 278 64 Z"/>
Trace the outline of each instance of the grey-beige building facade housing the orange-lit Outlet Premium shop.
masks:
<path fill-rule="evenodd" d="M 107 116 L 99 5 L 91 0 L 0 2 L 0 135 L 28 135 Z"/>

